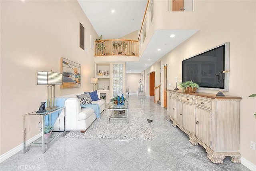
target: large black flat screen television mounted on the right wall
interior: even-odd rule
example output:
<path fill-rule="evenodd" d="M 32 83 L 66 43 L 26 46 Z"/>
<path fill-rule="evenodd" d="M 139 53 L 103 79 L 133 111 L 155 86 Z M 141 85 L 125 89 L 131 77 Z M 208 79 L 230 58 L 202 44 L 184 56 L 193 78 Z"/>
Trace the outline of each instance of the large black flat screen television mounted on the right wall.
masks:
<path fill-rule="evenodd" d="M 229 73 L 218 82 L 217 72 L 229 70 L 229 42 L 182 61 L 182 82 L 192 80 L 200 88 L 229 91 Z"/>

